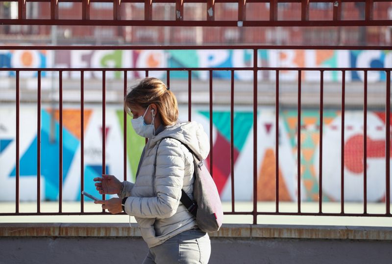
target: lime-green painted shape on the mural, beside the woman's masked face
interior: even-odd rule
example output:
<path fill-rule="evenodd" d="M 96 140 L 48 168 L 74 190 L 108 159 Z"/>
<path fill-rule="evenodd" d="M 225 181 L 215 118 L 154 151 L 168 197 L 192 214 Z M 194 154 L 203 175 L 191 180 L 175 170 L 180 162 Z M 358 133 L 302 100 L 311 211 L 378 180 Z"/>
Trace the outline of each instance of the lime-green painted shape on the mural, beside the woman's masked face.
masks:
<path fill-rule="evenodd" d="M 120 123 L 121 131 L 124 131 L 123 110 L 116 111 L 117 118 Z M 146 145 L 146 139 L 138 135 L 132 128 L 131 117 L 126 115 L 126 154 L 131 168 L 131 179 L 135 181 L 136 172 L 138 170 L 139 160 L 142 156 L 143 148 Z M 119 152 L 122 152 L 119 150 Z"/>

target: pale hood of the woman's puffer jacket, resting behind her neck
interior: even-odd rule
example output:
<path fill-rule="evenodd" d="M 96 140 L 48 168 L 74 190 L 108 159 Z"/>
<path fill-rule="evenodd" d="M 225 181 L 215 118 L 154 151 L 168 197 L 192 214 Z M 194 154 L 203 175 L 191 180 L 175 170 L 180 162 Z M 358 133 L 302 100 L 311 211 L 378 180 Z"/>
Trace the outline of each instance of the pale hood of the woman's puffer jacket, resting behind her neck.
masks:
<path fill-rule="evenodd" d="M 195 121 L 178 123 L 166 127 L 164 131 L 148 139 L 151 140 L 150 147 L 154 146 L 165 137 L 172 137 L 181 141 L 183 144 L 187 145 L 200 160 L 207 158 L 208 153 L 210 152 L 210 140 L 201 124 Z"/>

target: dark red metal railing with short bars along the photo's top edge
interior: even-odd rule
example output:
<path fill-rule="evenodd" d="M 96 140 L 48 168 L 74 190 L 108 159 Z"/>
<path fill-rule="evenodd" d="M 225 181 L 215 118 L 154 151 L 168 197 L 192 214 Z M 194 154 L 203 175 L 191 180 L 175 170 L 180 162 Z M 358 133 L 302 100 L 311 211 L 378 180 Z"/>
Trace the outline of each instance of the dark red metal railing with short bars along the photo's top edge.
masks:
<path fill-rule="evenodd" d="M 5 1 L 5 0 L 0 0 Z M 7 0 L 8 1 L 8 0 Z M 392 20 L 373 20 L 373 9 L 375 2 L 391 2 L 387 0 L 30 0 L 28 2 L 48 2 L 50 3 L 50 19 L 27 19 L 27 1 L 13 0 L 18 2 L 18 19 L 0 19 L 1 25 L 64 25 L 64 26 L 392 26 Z M 79 19 L 59 19 L 60 2 L 79 2 L 82 4 L 82 14 Z M 112 19 L 93 20 L 90 19 L 91 3 L 113 3 Z M 218 21 L 216 11 L 219 8 L 216 3 L 238 3 L 237 20 Z M 343 20 L 342 4 L 345 2 L 364 3 L 364 20 Z M 144 19 L 130 20 L 123 19 L 124 3 L 143 3 Z M 156 3 L 175 4 L 175 20 L 154 20 L 153 6 Z M 187 20 L 184 17 L 185 3 L 205 3 L 203 12 L 206 20 Z M 247 20 L 246 5 L 248 3 L 269 3 L 268 20 Z M 278 12 L 284 9 L 279 3 L 299 3 L 300 19 L 294 21 L 279 20 Z M 333 3 L 332 20 L 309 20 L 311 3 Z"/>

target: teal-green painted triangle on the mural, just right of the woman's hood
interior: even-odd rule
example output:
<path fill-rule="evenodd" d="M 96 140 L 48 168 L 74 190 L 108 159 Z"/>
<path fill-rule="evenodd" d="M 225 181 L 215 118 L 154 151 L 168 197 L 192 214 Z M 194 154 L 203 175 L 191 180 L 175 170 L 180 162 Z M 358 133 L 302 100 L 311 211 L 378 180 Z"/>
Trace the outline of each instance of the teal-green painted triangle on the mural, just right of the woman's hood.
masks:
<path fill-rule="evenodd" d="M 199 113 L 210 119 L 209 111 Z M 230 142 L 230 111 L 214 111 L 213 124 L 224 138 Z M 245 145 L 246 138 L 253 126 L 253 113 L 245 111 L 234 112 L 234 147 L 241 151 Z"/>

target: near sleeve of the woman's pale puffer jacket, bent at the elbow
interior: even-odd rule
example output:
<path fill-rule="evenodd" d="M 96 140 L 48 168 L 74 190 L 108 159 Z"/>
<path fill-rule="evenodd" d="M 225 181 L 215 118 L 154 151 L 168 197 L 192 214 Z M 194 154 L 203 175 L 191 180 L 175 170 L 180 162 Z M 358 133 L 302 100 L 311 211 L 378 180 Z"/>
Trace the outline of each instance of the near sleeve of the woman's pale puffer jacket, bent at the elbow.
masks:
<path fill-rule="evenodd" d="M 155 197 L 129 197 L 125 212 L 143 218 L 169 218 L 178 208 L 184 180 L 185 155 L 181 143 L 163 139 L 156 157 L 153 186 Z"/>

